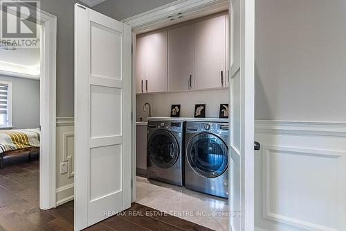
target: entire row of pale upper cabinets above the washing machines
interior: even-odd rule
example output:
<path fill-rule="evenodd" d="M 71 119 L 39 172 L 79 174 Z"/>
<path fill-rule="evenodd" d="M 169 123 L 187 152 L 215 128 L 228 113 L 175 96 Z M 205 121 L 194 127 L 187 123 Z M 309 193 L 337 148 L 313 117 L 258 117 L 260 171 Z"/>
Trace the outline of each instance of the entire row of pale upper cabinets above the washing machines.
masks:
<path fill-rule="evenodd" d="M 137 93 L 228 87 L 227 20 L 217 14 L 138 35 Z"/>

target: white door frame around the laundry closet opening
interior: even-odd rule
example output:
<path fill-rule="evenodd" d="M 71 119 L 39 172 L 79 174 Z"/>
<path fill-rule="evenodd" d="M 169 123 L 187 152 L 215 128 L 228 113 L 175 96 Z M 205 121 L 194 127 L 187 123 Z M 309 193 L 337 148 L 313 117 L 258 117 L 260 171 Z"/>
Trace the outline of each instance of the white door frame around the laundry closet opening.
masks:
<path fill-rule="evenodd" d="M 203 17 L 221 12 L 229 8 L 228 0 L 177 0 L 164 6 L 134 15 L 122 22 L 132 28 L 132 123 L 131 123 L 131 202 L 136 200 L 136 35 L 154 31 L 171 25 L 167 17 L 177 15 L 179 12 L 190 14 L 192 17 Z M 190 19 L 185 19 L 188 21 Z M 181 21 L 181 22 L 184 22 Z M 177 24 L 179 22 L 174 22 Z"/>

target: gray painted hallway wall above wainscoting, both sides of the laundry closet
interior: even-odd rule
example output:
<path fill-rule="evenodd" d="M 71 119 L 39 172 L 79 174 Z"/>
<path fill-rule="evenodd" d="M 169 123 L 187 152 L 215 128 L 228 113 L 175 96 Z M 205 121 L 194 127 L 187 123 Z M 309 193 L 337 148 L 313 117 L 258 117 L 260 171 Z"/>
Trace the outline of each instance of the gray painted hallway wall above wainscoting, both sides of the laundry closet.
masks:
<path fill-rule="evenodd" d="M 57 16 L 57 117 L 73 117 L 73 4 L 42 0 Z M 172 0 L 108 0 L 118 20 Z M 346 2 L 255 1 L 255 119 L 345 121 Z"/>

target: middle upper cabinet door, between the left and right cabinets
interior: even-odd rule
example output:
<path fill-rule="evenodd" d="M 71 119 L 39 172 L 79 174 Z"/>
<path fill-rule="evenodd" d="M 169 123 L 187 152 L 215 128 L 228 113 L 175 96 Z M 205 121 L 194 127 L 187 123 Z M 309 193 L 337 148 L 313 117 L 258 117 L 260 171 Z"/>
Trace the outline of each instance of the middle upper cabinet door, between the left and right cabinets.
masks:
<path fill-rule="evenodd" d="M 194 24 L 168 31 L 168 89 L 194 89 Z"/>

